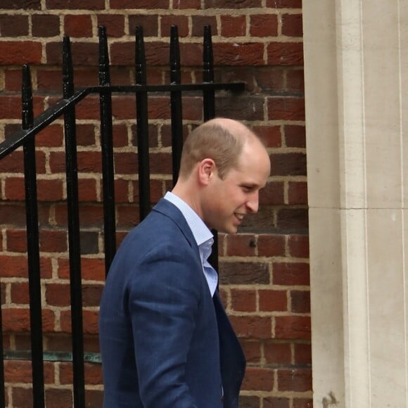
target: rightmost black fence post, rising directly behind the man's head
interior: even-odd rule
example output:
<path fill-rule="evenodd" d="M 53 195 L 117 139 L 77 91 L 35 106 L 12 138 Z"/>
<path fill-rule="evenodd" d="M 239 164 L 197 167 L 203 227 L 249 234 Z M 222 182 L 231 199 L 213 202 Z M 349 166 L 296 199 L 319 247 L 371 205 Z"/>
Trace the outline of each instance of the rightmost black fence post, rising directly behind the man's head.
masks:
<path fill-rule="evenodd" d="M 203 39 L 203 82 L 214 82 L 214 60 L 212 56 L 212 39 L 211 39 L 211 26 L 205 25 L 204 27 L 204 39 Z M 204 109 L 204 121 L 215 117 L 215 91 L 214 89 L 203 90 L 203 109 Z M 212 267 L 218 271 L 218 234 L 213 230 L 214 244 L 212 246 L 212 253 L 208 262 L 212 264 Z"/>

